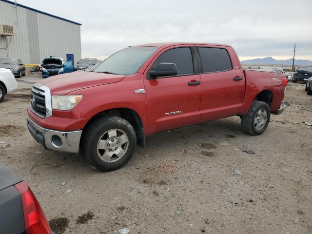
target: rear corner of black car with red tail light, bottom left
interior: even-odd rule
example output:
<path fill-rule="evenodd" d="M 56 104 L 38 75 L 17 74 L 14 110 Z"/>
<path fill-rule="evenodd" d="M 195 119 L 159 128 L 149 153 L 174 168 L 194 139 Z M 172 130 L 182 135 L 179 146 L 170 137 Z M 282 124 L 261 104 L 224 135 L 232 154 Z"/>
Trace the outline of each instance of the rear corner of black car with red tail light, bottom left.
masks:
<path fill-rule="evenodd" d="M 26 182 L 2 163 L 0 234 L 55 234 Z"/>

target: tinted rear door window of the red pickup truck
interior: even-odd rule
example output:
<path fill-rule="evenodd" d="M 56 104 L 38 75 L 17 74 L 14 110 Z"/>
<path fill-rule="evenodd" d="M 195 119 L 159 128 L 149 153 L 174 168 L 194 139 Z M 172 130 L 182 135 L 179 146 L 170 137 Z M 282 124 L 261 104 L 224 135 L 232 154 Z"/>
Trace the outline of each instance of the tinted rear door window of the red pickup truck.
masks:
<path fill-rule="evenodd" d="M 226 49 L 199 47 L 203 73 L 221 72 L 232 69 L 229 53 Z"/>

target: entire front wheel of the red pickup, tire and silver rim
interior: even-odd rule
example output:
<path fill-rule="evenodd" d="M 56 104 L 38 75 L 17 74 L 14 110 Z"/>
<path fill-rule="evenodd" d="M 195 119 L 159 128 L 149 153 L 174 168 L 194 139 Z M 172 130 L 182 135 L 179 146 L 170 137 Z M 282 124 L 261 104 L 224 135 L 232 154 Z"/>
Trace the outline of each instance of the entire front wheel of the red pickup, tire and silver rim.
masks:
<path fill-rule="evenodd" d="M 137 137 L 123 118 L 101 117 L 86 129 L 82 152 L 90 166 L 102 172 L 117 170 L 133 156 Z"/>

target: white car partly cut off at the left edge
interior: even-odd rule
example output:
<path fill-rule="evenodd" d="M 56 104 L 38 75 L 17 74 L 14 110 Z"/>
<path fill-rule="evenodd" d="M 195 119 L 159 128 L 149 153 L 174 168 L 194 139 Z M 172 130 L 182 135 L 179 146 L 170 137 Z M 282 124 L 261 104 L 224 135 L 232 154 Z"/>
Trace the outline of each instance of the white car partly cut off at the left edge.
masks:
<path fill-rule="evenodd" d="M 0 102 L 4 95 L 14 92 L 18 88 L 18 82 L 10 69 L 0 68 Z"/>

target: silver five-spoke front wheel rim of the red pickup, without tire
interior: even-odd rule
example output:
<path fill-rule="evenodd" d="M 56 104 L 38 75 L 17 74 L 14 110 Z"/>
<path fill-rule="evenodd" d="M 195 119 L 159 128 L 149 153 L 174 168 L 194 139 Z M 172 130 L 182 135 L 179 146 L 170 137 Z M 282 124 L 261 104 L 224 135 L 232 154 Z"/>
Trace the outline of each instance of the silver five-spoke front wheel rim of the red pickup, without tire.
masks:
<path fill-rule="evenodd" d="M 129 138 L 121 129 L 106 131 L 98 140 L 98 157 L 104 162 L 117 162 L 128 150 Z"/>

